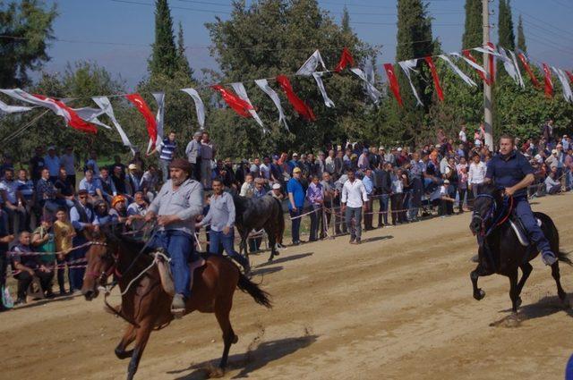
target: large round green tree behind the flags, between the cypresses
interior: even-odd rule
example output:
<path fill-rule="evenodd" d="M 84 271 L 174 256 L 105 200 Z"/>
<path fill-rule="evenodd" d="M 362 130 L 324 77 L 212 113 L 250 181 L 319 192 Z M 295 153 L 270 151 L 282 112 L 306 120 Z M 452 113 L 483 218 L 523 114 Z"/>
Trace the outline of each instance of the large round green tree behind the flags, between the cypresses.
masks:
<path fill-rule="evenodd" d="M 304 122 L 283 97 L 290 126 L 288 133 L 278 124 L 276 107 L 252 80 L 274 78 L 295 72 L 320 48 L 329 67 L 338 63 L 340 52 L 347 46 L 358 63 L 372 57 L 372 48 L 363 44 L 352 30 L 346 32 L 314 0 L 260 0 L 246 6 L 234 3 L 228 21 L 206 24 L 213 42 L 212 55 L 218 60 L 221 82 L 242 81 L 270 133 L 251 118 L 242 119 L 230 110 L 221 111 L 220 101 L 208 116 L 208 129 L 225 156 L 249 156 L 292 147 L 312 149 L 333 140 L 355 139 L 363 133 L 362 115 L 366 113 L 363 88 L 354 74 L 324 77 L 329 97 L 335 108 L 327 108 L 312 78 L 291 77 L 296 94 L 312 107 L 316 122 Z M 282 93 L 272 81 L 271 87 Z M 218 96 L 215 99 L 219 99 Z M 256 143 L 253 143 L 256 141 Z"/>

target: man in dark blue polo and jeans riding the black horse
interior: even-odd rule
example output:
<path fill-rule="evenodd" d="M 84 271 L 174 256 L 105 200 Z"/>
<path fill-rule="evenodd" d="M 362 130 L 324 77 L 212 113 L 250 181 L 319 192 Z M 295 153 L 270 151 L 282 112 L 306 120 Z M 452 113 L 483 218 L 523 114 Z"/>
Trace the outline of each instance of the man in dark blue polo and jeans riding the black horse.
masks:
<path fill-rule="evenodd" d="M 529 239 L 541 251 L 543 263 L 551 266 L 557 258 L 527 202 L 527 186 L 535 181 L 534 169 L 526 157 L 514 149 L 513 141 L 510 136 L 501 136 L 500 153 L 487 165 L 485 182 L 494 182 L 505 188 L 505 195 L 513 196 L 516 214 L 526 228 Z"/>

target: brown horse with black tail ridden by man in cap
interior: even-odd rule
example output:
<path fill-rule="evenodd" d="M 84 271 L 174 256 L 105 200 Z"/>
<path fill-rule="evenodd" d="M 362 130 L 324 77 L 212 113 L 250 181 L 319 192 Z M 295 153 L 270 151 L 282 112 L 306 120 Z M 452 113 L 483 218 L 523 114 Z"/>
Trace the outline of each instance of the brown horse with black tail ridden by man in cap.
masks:
<path fill-rule="evenodd" d="M 153 258 L 145 253 L 142 242 L 122 237 L 116 230 L 115 227 L 104 228 L 92 241 L 86 255 L 88 266 L 81 293 L 86 300 L 93 300 L 98 296 L 98 288 L 106 286 L 107 277 L 114 274 L 122 291 L 122 305 L 119 309 L 109 307 L 107 302 L 106 305 L 130 323 L 115 348 L 117 358 L 131 358 L 129 380 L 137 371 L 151 332 L 167 326 L 174 317 L 170 310 L 172 297 L 161 286 L 158 267 L 152 265 Z M 229 321 L 237 287 L 248 292 L 262 306 L 271 307 L 269 294 L 241 274 L 235 264 L 221 256 L 209 256 L 205 265 L 195 270 L 192 297 L 185 308 L 185 314 L 193 310 L 215 313 L 225 343 L 219 362 L 223 370 L 231 344 L 238 341 Z M 126 350 L 132 342 L 135 342 L 133 350 Z"/>

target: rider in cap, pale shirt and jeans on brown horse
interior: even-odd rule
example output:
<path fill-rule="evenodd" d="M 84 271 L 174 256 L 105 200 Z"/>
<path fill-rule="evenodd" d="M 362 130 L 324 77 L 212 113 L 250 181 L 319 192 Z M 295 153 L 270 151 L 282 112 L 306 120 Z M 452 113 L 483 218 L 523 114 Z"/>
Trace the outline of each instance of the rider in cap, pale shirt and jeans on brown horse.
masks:
<path fill-rule="evenodd" d="M 203 187 L 190 178 L 191 164 L 176 158 L 169 164 L 170 179 L 165 182 L 145 215 L 146 221 L 157 216 L 159 231 L 150 248 L 163 248 L 171 258 L 175 296 L 171 309 L 184 312 L 185 300 L 191 296 L 192 273 L 188 261 L 196 259 L 192 244 L 195 216 L 203 211 Z"/>

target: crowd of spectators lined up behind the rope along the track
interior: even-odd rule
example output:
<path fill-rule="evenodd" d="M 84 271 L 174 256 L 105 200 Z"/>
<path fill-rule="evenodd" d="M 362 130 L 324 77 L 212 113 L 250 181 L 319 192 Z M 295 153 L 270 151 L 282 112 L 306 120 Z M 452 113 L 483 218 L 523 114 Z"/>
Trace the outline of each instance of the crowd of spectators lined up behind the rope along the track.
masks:
<path fill-rule="evenodd" d="M 553 128 L 549 121 L 539 139 L 516 139 L 516 149 L 535 167 L 536 184 L 530 196 L 571 190 L 573 143 L 568 135 L 553 136 Z M 0 166 L 1 284 L 4 287 L 10 264 L 19 283 L 16 302 L 26 301 L 34 277 L 47 297 L 54 296 L 54 277 L 59 294 L 80 290 L 86 233 L 108 223 L 140 229 L 158 186 L 168 179 L 169 163 L 183 154 L 192 164 L 193 179 L 205 190 L 218 178 L 228 192 L 283 200 L 295 245 L 302 242 L 304 215 L 311 219 L 310 241 L 323 239 L 331 228 L 334 234 L 349 232 L 351 243 L 356 244 L 361 241 L 362 224 L 368 231 L 413 223 L 435 209 L 441 216 L 454 214 L 456 207 L 463 213 L 483 183 L 493 155 L 484 144 L 483 126 L 473 139 L 467 134 L 466 126 L 455 137 L 440 129 L 435 143 L 416 149 L 328 144 L 316 152 L 285 152 L 238 162 L 218 157 L 207 132 L 195 133 L 185 147 L 179 147 L 171 132 L 160 142 L 157 158 L 144 159 L 136 152 L 125 164 L 115 156 L 111 165 L 101 165 L 92 151 L 81 165 L 72 146 L 62 152 L 48 147 L 47 154 L 38 147 L 29 165 L 18 170 L 11 157 L 4 156 Z M 78 172 L 83 173 L 81 179 L 76 178 Z M 259 249 L 260 244 L 260 239 L 252 239 L 250 249 Z M 33 254 L 38 252 L 46 254 Z"/>

